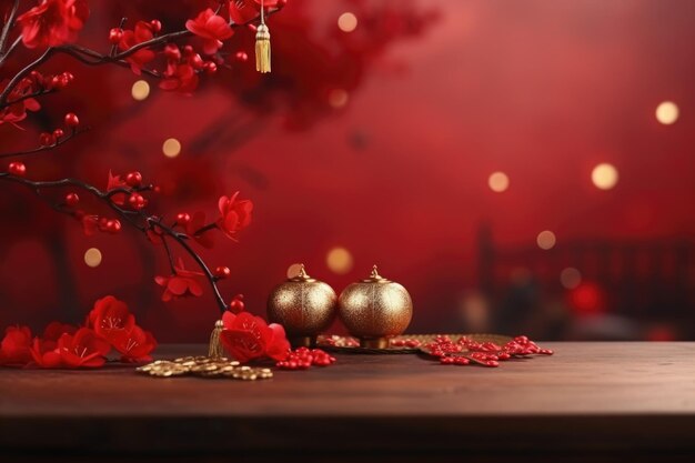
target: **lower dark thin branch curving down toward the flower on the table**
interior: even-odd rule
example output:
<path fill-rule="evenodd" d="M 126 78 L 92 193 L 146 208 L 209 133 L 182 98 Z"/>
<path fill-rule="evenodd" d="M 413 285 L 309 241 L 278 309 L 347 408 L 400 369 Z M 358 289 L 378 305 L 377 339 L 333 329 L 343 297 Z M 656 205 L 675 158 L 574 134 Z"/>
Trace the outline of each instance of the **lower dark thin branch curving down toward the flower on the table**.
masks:
<path fill-rule="evenodd" d="M 3 181 L 3 180 L 19 183 L 21 185 L 29 188 L 31 191 L 33 191 L 33 193 L 37 197 L 39 197 L 44 202 L 47 202 L 52 209 L 57 210 L 58 212 L 71 215 L 71 217 L 75 217 L 77 214 L 75 210 L 64 204 L 59 204 L 53 201 L 50 201 L 42 194 L 42 190 L 61 189 L 61 188 L 67 188 L 67 187 L 79 188 L 83 191 L 89 192 L 98 200 L 104 202 L 112 211 L 114 211 L 118 215 L 120 215 L 128 223 L 130 223 L 131 225 L 140 230 L 141 232 L 147 233 L 148 231 L 154 231 L 155 233 L 163 233 L 164 236 L 162 236 L 162 242 L 164 243 L 164 249 L 169 256 L 170 265 L 172 266 L 173 272 L 175 273 L 177 271 L 175 271 L 175 266 L 173 265 L 173 261 L 172 261 L 173 258 L 171 254 L 171 249 L 169 248 L 169 244 L 167 243 L 165 238 L 170 238 L 173 241 L 175 241 L 195 261 L 198 266 L 202 270 L 205 279 L 210 283 L 210 286 L 212 288 L 220 312 L 224 313 L 224 311 L 228 309 L 228 304 L 224 302 L 224 299 L 222 298 L 222 294 L 220 293 L 220 290 L 216 284 L 218 278 L 212 273 L 210 268 L 205 264 L 202 258 L 195 252 L 195 250 L 191 248 L 191 245 L 187 242 L 187 240 L 190 238 L 188 234 L 178 232 L 173 230 L 172 228 L 167 227 L 162 222 L 161 218 L 158 218 L 155 215 L 149 215 L 143 211 L 128 210 L 128 209 L 121 208 L 120 205 L 113 202 L 114 194 L 130 194 L 133 192 L 149 191 L 153 189 L 153 185 L 150 184 L 150 185 L 142 185 L 142 187 L 137 187 L 137 188 L 115 188 L 109 191 L 102 191 L 98 189 L 97 187 L 93 187 L 89 183 L 82 182 L 77 179 L 68 178 L 68 179 L 61 179 L 61 180 L 54 180 L 54 181 L 33 181 L 33 180 L 24 179 L 22 177 L 13 175 L 9 172 L 0 172 L 0 181 Z"/>

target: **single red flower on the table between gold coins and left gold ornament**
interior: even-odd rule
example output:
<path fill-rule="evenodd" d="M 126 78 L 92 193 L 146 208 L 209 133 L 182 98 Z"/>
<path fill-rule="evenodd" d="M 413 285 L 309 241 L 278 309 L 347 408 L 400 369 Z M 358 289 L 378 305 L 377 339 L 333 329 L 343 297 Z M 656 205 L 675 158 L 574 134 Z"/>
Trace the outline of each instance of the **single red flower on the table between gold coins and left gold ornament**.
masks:
<path fill-rule="evenodd" d="M 238 315 L 224 312 L 222 322 L 224 323 L 220 335 L 222 345 L 240 362 L 260 358 L 281 361 L 290 352 L 290 343 L 282 325 L 276 323 L 268 325 L 263 319 L 249 312 L 241 312 Z"/>

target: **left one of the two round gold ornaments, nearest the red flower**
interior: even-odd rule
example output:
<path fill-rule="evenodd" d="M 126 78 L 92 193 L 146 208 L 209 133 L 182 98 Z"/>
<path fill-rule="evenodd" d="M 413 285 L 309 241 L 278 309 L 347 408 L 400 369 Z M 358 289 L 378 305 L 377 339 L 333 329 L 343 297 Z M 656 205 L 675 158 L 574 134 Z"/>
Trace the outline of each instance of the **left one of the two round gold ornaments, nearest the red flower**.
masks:
<path fill-rule="evenodd" d="M 316 336 L 335 318 L 335 291 L 326 283 L 300 273 L 279 284 L 268 298 L 268 320 L 284 326 L 293 346 L 313 346 Z"/>

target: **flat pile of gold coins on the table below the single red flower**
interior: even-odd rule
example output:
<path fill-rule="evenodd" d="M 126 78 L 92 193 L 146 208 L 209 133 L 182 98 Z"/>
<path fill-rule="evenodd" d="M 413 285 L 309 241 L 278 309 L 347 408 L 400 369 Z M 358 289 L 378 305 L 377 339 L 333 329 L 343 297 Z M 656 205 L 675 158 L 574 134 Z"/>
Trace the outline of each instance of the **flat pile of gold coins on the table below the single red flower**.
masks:
<path fill-rule="evenodd" d="M 209 356 L 182 356 L 175 360 L 158 360 L 138 368 L 137 371 L 154 378 L 189 375 L 207 379 L 228 378 L 240 381 L 273 378 L 271 369 L 242 366 L 236 361 Z"/>

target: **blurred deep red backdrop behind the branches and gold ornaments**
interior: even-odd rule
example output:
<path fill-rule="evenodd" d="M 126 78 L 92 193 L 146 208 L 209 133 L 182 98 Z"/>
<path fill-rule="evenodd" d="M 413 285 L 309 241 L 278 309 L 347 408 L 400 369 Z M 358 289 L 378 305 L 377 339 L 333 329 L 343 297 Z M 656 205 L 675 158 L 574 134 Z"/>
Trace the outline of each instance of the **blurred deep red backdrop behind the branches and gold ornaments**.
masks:
<path fill-rule="evenodd" d="M 165 24 L 175 24 L 204 2 L 183 1 L 168 13 L 162 8 L 172 2 L 91 3 L 81 41 L 103 49 L 104 31 L 122 14 L 164 14 Z M 51 64 L 77 79 L 43 101 L 48 115 L 30 115 L 29 133 L 69 109 L 93 130 L 28 160 L 31 177 L 74 175 L 105 187 L 109 169 L 138 169 L 162 185 L 153 207 L 170 217 L 199 209 L 214 214 L 219 195 L 241 190 L 255 203 L 252 225 L 240 243 L 220 238 L 203 252 L 212 265 L 232 269 L 221 283 L 225 294 L 243 292 L 249 310 L 264 313 L 270 289 L 294 262 L 338 292 L 377 263 L 410 290 L 413 332 L 470 326 L 462 308 L 477 293 L 476 235 L 485 223 L 506 246 L 535 246 L 543 230 L 556 234 L 558 246 L 692 236 L 695 3 L 325 3 L 291 0 L 271 18 L 280 78 L 269 79 L 295 80 L 290 90 L 268 90 L 268 101 L 254 93 L 265 83 L 240 82 L 235 69 L 219 72 L 192 98 L 152 82 L 150 97 L 138 102 L 130 97 L 138 78 L 127 69 Z M 336 27 L 343 11 L 360 20 L 352 38 Z M 407 22 L 404 17 L 405 26 L 397 22 Z M 383 28 L 393 36 L 381 38 Z M 238 33 L 228 47 L 251 52 L 249 43 Z M 345 107 L 330 105 L 334 89 L 348 91 Z M 681 110 L 673 125 L 654 115 L 666 100 Z M 215 125 L 221 130 L 211 132 Z M 31 145 L 31 137 L 0 125 L 1 151 Z M 183 147 L 175 159 L 161 153 L 170 137 Z M 592 184 L 600 162 L 620 172 L 612 190 Z M 490 190 L 494 171 L 510 177 L 507 191 Z M 0 324 L 75 321 L 94 299 L 114 294 L 160 341 L 209 334 L 212 298 L 159 301 L 153 276 L 167 271 L 165 260 L 138 232 L 85 238 L 78 223 L 19 187 L 1 187 Z M 95 269 L 83 262 L 92 246 L 103 253 Z M 334 246 L 354 258 L 346 274 L 326 265 Z M 544 258 L 545 251 L 534 252 Z M 610 305 L 604 310 L 611 314 Z M 667 315 L 651 319 L 667 336 L 689 335 Z"/>

